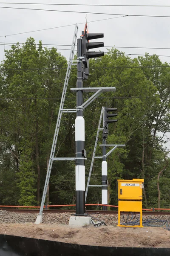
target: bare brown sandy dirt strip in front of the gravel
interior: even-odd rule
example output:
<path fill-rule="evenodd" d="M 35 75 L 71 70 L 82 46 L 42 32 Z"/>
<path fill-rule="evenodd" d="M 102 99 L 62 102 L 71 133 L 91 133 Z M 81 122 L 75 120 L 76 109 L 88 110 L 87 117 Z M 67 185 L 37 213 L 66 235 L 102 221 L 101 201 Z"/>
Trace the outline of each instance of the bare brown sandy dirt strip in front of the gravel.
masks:
<path fill-rule="evenodd" d="M 68 225 L 59 224 L 6 223 L 0 225 L 0 234 L 96 246 L 170 247 L 170 231 L 161 227 L 94 227 L 90 225 L 71 228 Z"/>

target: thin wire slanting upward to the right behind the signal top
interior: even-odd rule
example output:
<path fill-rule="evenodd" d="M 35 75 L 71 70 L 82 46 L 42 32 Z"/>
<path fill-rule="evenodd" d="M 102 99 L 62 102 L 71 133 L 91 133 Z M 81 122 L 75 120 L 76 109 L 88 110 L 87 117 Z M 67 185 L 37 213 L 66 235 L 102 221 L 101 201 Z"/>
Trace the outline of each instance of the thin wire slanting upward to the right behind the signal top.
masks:
<path fill-rule="evenodd" d="M 103 20 L 113 20 L 113 19 L 122 18 L 122 17 L 127 17 L 127 15 L 119 16 L 119 17 L 112 17 L 112 18 L 107 18 L 107 19 L 101 19 L 101 20 L 91 20 L 91 21 L 88 21 L 88 23 L 97 22 L 97 21 L 103 21 Z M 81 22 L 81 23 L 77 23 L 77 24 L 78 25 L 85 24 L 85 22 Z M 44 30 L 49 30 L 49 29 L 58 29 L 58 28 L 64 28 L 64 27 L 68 27 L 68 26 L 75 26 L 75 25 L 76 24 L 74 23 L 74 24 L 69 24 L 69 25 L 64 25 L 64 26 L 52 27 L 52 28 L 48 28 L 48 29 L 38 29 L 38 30 L 32 30 L 32 31 L 21 32 L 21 33 L 15 33 L 15 34 L 10 34 L 10 35 L 0 35 L 0 37 L 11 36 L 11 35 L 21 35 L 21 34 L 26 34 L 26 33 L 39 32 L 39 31 L 44 31 Z"/>

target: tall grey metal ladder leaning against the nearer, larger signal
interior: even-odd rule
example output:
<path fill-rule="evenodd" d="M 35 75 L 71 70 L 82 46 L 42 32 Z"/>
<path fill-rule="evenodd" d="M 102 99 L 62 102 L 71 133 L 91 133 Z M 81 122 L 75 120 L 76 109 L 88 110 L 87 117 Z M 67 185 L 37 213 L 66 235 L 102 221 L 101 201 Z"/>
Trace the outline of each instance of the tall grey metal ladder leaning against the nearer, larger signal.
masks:
<path fill-rule="evenodd" d="M 60 106 L 59 106 L 57 124 L 56 124 L 55 132 L 54 132 L 54 139 L 53 139 L 50 159 L 49 159 L 49 163 L 48 163 L 48 169 L 47 169 L 47 174 L 46 174 L 46 179 L 45 179 L 45 185 L 44 185 L 44 190 L 43 190 L 39 215 L 42 215 L 42 211 L 43 211 L 43 208 L 44 208 L 48 183 L 49 183 L 49 180 L 50 180 L 51 168 L 52 168 L 52 164 L 53 164 L 53 161 L 54 161 L 54 153 L 55 153 L 57 138 L 58 138 L 58 134 L 59 134 L 59 126 L 60 126 L 60 122 L 61 122 L 62 112 L 65 112 L 65 111 L 63 111 L 63 107 L 64 107 L 65 95 L 66 95 L 66 91 L 67 91 L 67 87 L 68 87 L 70 72 L 71 72 L 71 66 L 73 64 L 74 49 L 75 49 L 75 45 L 76 45 L 76 41 L 77 41 L 77 33 L 78 33 L 78 26 L 76 24 L 75 30 L 74 30 L 73 42 L 72 42 L 72 46 L 71 46 L 70 57 L 69 57 L 69 60 L 68 60 L 67 72 L 66 72 L 66 75 L 65 75 L 64 87 L 63 87 L 63 90 L 62 90 L 62 97 L 61 97 L 61 102 L 60 102 Z"/>

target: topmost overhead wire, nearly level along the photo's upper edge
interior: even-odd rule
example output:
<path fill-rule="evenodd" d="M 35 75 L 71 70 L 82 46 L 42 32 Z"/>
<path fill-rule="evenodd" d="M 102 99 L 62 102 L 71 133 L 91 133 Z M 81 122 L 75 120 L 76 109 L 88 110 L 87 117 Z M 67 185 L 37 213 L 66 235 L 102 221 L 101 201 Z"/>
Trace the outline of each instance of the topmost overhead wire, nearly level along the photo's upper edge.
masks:
<path fill-rule="evenodd" d="M 133 7 L 170 7 L 158 5 L 119 5 L 119 4 L 78 4 L 78 3 L 5 3 L 0 4 L 26 4 L 26 5 L 53 5 L 53 6 L 133 6 Z"/>

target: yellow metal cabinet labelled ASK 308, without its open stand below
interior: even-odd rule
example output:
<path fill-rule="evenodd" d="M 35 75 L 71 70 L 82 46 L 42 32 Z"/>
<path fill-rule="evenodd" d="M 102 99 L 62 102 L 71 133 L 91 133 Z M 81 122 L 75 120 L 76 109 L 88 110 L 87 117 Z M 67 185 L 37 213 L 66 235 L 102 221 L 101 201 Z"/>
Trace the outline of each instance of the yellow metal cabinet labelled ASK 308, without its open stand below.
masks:
<path fill-rule="evenodd" d="M 122 200 L 142 200 L 144 179 L 118 180 L 118 198 Z"/>

